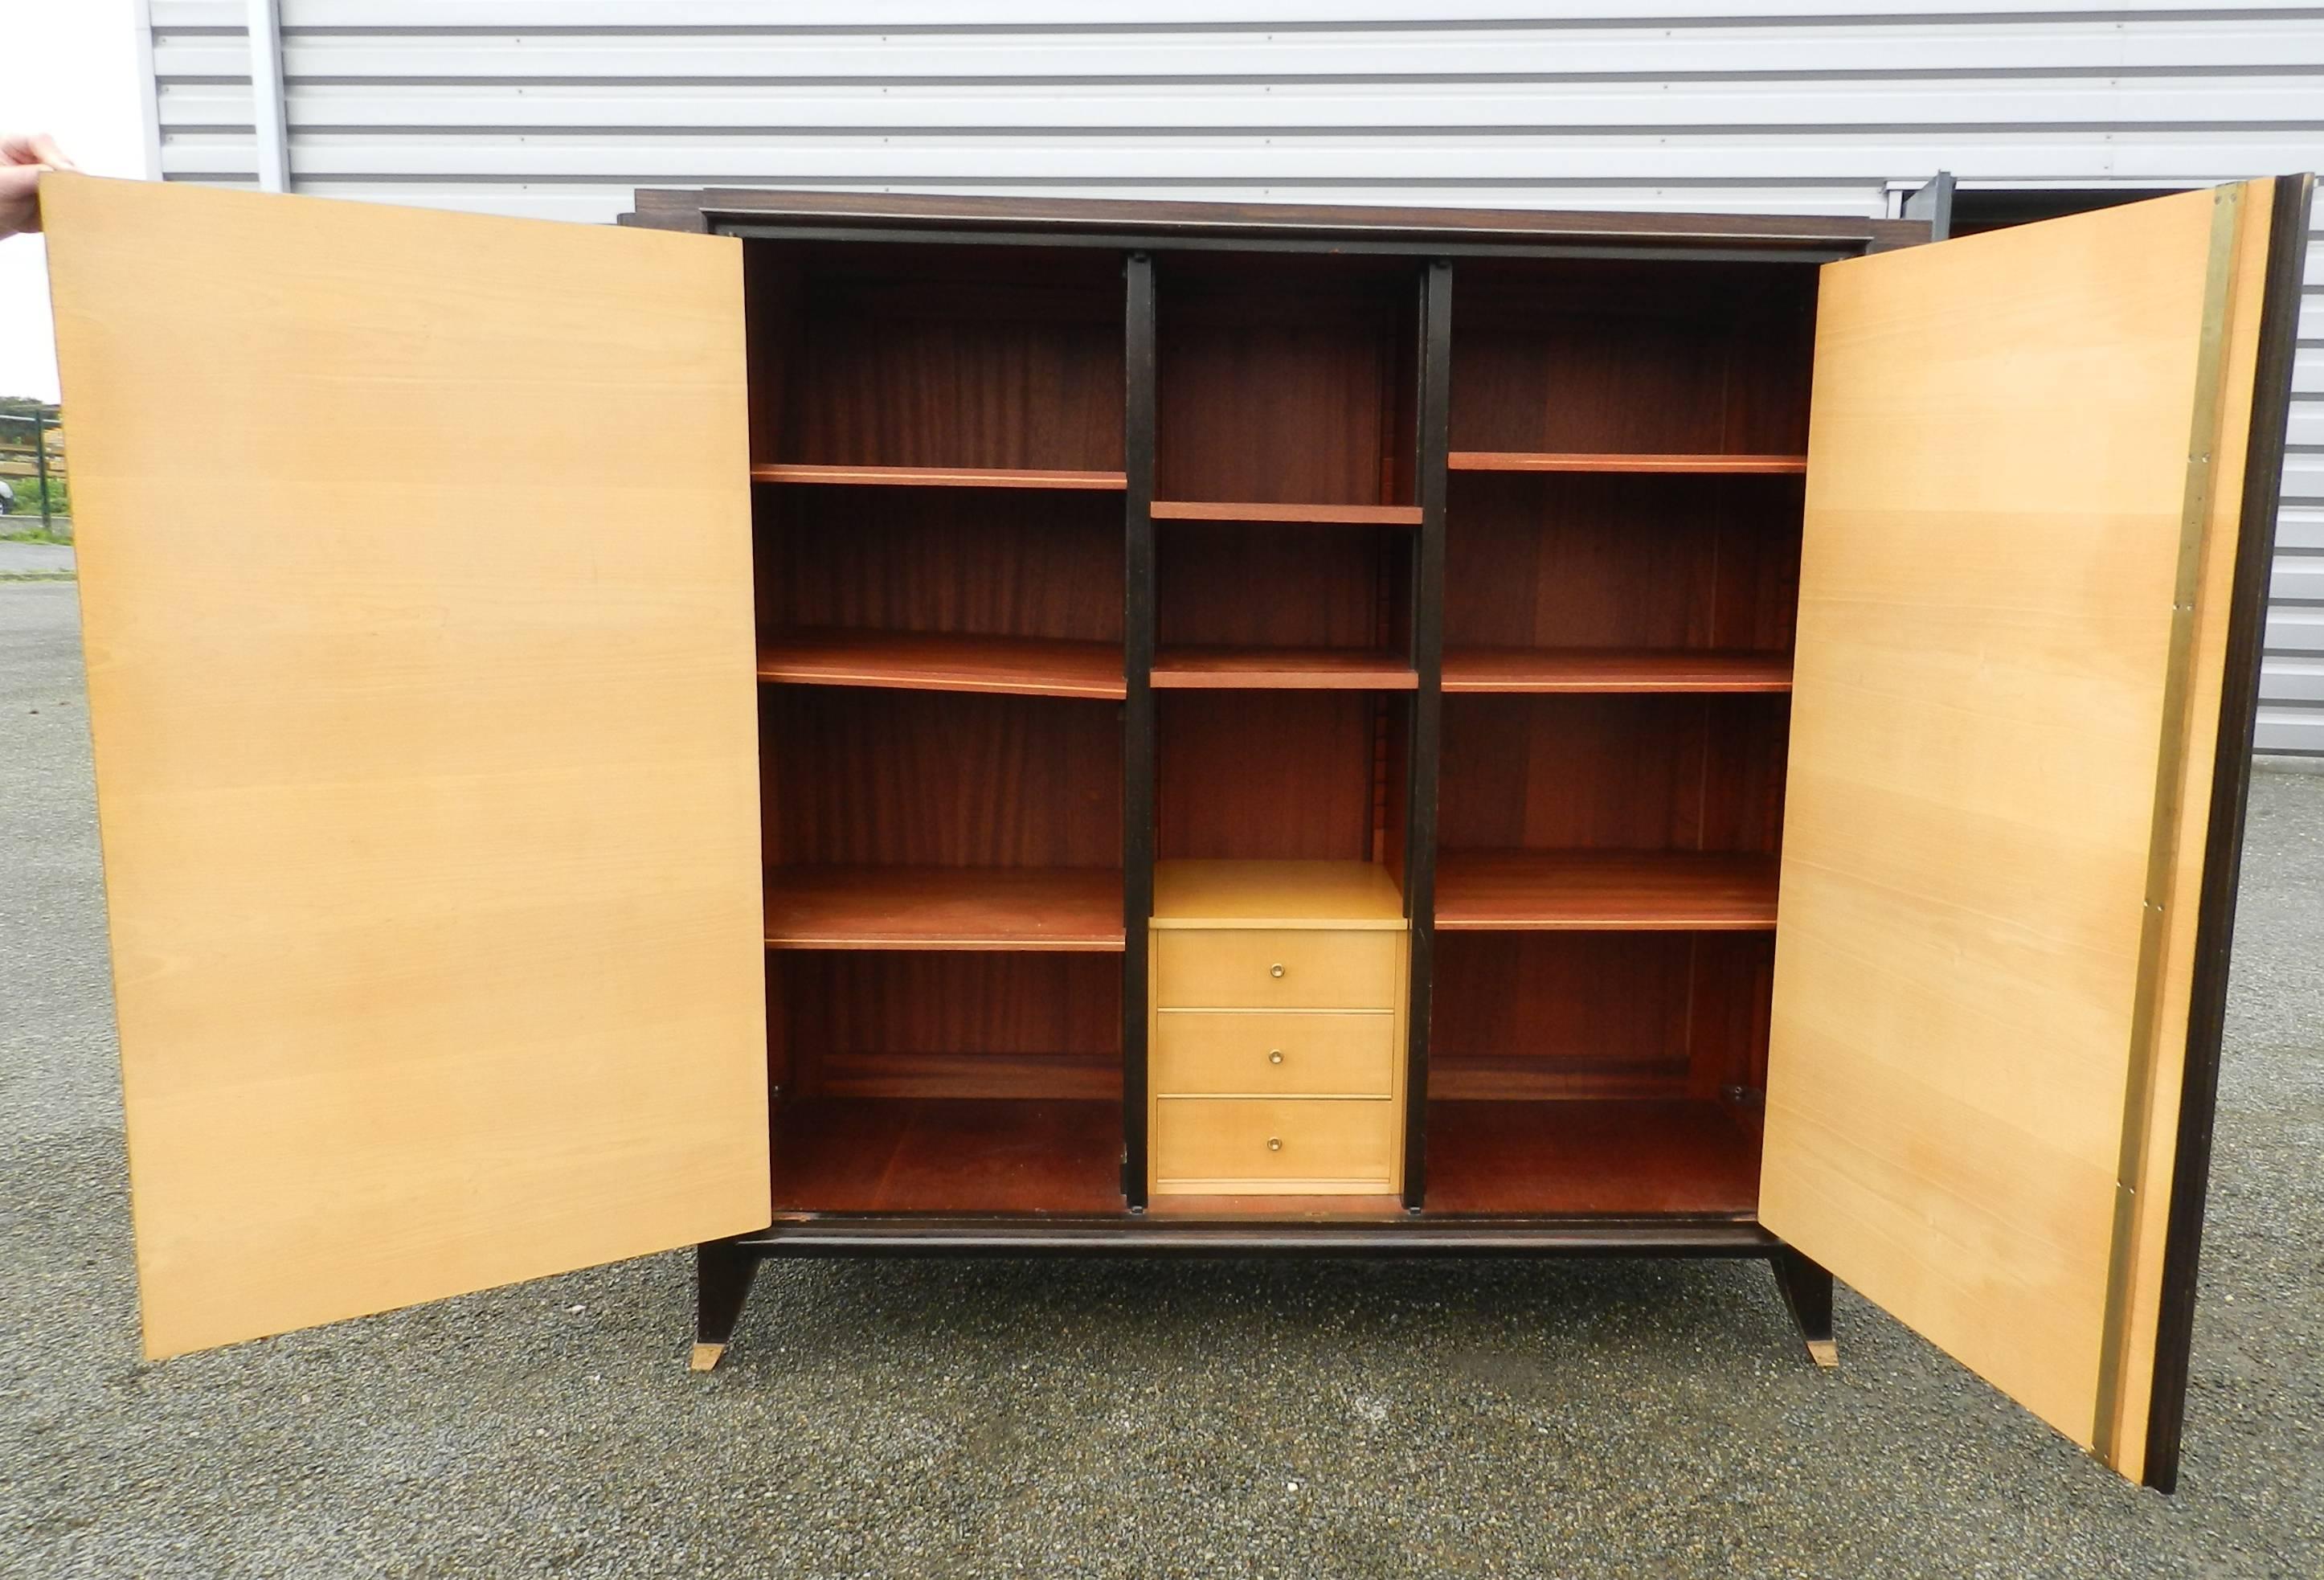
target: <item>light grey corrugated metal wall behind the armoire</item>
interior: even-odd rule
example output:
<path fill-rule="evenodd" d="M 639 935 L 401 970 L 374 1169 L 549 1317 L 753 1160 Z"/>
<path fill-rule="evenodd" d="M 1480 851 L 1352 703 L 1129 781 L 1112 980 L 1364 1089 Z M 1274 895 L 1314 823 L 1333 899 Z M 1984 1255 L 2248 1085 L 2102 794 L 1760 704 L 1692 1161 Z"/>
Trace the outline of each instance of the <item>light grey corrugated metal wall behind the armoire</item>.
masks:
<path fill-rule="evenodd" d="M 702 184 L 1885 214 L 1938 167 L 2324 167 L 2324 7 L 2266 0 L 149 5 L 167 179 L 258 179 L 258 14 L 293 188 L 576 221 Z M 2301 342 L 2259 734 L 2324 755 L 2324 237 Z"/>

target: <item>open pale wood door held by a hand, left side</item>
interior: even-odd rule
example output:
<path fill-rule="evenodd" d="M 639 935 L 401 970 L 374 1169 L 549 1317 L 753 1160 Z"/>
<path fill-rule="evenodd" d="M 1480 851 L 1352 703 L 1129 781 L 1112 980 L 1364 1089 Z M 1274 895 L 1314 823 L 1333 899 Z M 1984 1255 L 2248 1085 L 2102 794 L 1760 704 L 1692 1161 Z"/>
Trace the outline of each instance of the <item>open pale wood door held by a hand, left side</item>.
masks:
<path fill-rule="evenodd" d="M 146 1352 L 762 1227 L 739 244 L 42 209 Z"/>

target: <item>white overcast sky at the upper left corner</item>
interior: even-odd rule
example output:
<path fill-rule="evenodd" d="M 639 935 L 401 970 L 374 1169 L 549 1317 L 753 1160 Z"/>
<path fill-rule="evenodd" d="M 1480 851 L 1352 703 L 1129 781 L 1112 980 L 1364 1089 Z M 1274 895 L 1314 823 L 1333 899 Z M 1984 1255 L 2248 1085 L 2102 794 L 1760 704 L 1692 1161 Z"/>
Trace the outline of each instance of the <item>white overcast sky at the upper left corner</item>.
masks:
<path fill-rule="evenodd" d="M 100 177 L 144 174 L 130 0 L 0 0 L 0 130 L 56 132 Z M 0 395 L 56 400 L 40 237 L 0 242 Z"/>

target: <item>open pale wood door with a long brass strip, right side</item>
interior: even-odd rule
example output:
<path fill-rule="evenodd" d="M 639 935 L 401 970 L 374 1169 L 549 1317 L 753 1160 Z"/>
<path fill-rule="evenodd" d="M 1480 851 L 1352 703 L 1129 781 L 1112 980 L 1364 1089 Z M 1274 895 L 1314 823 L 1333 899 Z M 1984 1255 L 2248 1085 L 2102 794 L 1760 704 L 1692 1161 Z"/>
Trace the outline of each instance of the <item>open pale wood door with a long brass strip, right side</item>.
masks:
<path fill-rule="evenodd" d="M 2157 1485 L 2305 193 L 1836 263 L 1817 307 L 1762 1220 Z"/>

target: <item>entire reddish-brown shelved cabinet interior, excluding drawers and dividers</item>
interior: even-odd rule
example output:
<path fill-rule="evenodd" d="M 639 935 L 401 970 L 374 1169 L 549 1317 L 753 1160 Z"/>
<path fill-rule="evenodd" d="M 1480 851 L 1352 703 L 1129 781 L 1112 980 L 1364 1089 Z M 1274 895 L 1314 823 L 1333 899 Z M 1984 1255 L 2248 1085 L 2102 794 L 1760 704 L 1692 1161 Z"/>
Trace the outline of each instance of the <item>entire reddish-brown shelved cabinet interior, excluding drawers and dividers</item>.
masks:
<path fill-rule="evenodd" d="M 776 1211 L 1127 1208 L 1148 797 L 1432 871 L 1411 1206 L 1755 1211 L 1815 270 L 1457 260 L 1439 609 L 1425 272 L 1153 258 L 1139 788 L 1125 256 L 746 244 Z"/>

